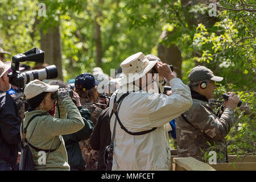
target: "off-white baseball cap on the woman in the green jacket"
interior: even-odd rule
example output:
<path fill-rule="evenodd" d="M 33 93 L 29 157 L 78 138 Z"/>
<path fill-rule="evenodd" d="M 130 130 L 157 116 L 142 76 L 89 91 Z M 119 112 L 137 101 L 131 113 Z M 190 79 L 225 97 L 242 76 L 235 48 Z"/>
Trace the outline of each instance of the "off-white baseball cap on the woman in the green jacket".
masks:
<path fill-rule="evenodd" d="M 27 99 L 38 96 L 43 92 L 55 92 L 59 89 L 59 85 L 48 85 L 43 81 L 33 80 L 27 84 L 24 89 L 24 95 Z"/>

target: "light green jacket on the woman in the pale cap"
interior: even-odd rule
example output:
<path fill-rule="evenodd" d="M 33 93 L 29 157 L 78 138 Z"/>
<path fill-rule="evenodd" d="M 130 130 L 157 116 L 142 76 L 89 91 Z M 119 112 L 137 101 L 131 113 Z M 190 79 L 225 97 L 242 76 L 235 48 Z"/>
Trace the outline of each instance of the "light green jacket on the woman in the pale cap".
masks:
<path fill-rule="evenodd" d="M 70 169 L 65 143 L 61 135 L 71 134 L 81 130 L 82 127 L 84 127 L 84 121 L 76 105 L 73 104 L 71 98 L 65 98 L 62 105 L 59 107 L 61 119 L 57 118 L 58 110 L 56 108 L 55 117 L 52 117 L 49 113 L 46 113 L 42 116 L 34 118 L 27 128 L 26 139 L 35 147 L 42 148 L 44 150 L 49 150 L 50 147 L 51 149 L 55 149 L 61 142 L 60 147 L 56 151 L 50 153 L 45 152 L 44 154 L 40 153 L 40 151 L 36 152 L 30 147 L 36 170 L 68 171 Z M 43 113 L 45 113 L 43 110 L 27 111 L 23 121 L 24 127 L 27 126 L 28 120 L 33 115 Z M 67 118 L 67 114 L 69 118 L 65 119 Z M 34 133 L 32 134 L 33 130 Z"/>

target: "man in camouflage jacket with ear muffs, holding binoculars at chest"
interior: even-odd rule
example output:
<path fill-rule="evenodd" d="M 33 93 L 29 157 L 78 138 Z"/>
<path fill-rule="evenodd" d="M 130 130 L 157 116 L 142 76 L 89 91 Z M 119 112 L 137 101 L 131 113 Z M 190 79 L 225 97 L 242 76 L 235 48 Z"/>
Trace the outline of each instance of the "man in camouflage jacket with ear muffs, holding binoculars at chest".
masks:
<path fill-rule="evenodd" d="M 234 124 L 234 109 L 240 100 L 236 94 L 228 92 L 225 110 L 217 118 L 208 100 L 214 96 L 214 82 L 223 78 L 214 76 L 210 69 L 200 65 L 191 70 L 188 78 L 193 105 L 176 120 L 177 156 L 191 156 L 204 162 L 204 152 L 215 151 L 217 162 L 225 161 L 225 137 Z"/>

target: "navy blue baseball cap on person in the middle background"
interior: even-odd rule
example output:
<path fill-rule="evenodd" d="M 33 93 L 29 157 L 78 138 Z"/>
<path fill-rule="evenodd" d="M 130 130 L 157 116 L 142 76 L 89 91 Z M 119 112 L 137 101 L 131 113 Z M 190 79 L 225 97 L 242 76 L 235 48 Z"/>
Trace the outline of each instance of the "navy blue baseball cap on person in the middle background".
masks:
<path fill-rule="evenodd" d="M 98 81 L 95 80 L 94 76 L 90 73 L 82 73 L 76 77 L 75 86 L 76 89 L 89 90 L 95 85 L 98 85 Z"/>

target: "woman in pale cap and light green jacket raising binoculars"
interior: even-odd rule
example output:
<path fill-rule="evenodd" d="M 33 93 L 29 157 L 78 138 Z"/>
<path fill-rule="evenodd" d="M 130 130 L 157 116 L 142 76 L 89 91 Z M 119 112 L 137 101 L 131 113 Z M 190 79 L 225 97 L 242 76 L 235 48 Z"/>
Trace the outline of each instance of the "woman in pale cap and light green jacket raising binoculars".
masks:
<path fill-rule="evenodd" d="M 56 91 L 60 107 L 59 111 L 56 108 L 55 117 L 52 117 L 48 111 L 53 109 L 55 99 L 52 94 Z M 67 151 L 61 135 L 81 130 L 84 121 L 68 91 L 59 89 L 59 85 L 34 80 L 26 86 L 24 95 L 31 109 L 24 113 L 20 133 L 24 144 L 30 146 L 35 169 L 69 170 Z M 69 118 L 65 119 L 67 114 Z M 57 118 L 58 115 L 60 118 Z"/>

